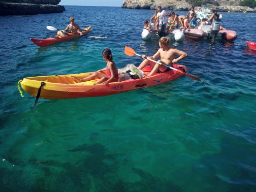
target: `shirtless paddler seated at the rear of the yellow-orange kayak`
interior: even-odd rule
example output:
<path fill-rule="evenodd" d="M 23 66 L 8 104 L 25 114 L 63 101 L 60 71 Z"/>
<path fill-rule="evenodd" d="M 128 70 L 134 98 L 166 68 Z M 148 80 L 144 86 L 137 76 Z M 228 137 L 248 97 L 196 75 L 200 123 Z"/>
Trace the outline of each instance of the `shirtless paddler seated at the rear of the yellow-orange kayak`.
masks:
<path fill-rule="evenodd" d="M 152 57 L 146 57 L 145 55 L 142 55 L 141 57 L 144 59 L 144 61 L 138 66 L 138 68 L 143 69 L 147 64 L 150 64 L 153 67 L 153 69 L 149 73 L 148 75 L 149 77 L 154 75 L 155 73 L 162 73 L 162 72 L 169 71 L 171 69 L 167 66 L 156 64 L 155 62 L 149 61 L 146 58 L 156 60 L 157 58 L 160 57 L 160 60 L 158 62 L 166 65 L 172 65 L 188 56 L 187 53 L 180 51 L 178 49 L 172 48 L 169 46 L 169 44 L 170 44 L 170 39 L 168 37 L 161 37 L 159 39 L 160 49 L 158 50 L 158 52 Z M 176 55 L 180 57 L 175 59 Z"/>

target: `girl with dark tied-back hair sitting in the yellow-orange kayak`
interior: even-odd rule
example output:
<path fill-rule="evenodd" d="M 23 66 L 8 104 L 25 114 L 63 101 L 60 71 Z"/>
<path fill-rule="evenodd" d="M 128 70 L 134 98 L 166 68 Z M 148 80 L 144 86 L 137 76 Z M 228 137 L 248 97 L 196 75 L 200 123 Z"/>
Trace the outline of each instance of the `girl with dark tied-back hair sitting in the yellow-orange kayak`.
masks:
<path fill-rule="evenodd" d="M 78 78 L 72 76 L 74 81 L 79 83 L 79 82 L 93 80 L 96 77 L 99 78 L 99 80 L 95 84 L 103 83 L 104 85 L 108 85 L 108 83 L 118 81 L 118 70 L 117 70 L 116 64 L 113 62 L 113 56 L 112 56 L 111 50 L 104 49 L 102 51 L 102 56 L 107 64 L 107 66 L 105 68 L 100 69 L 97 72 L 94 72 L 92 75 L 85 77 L 83 79 L 78 79 Z M 106 70 L 107 72 L 104 73 L 103 72 L 104 70 Z"/>

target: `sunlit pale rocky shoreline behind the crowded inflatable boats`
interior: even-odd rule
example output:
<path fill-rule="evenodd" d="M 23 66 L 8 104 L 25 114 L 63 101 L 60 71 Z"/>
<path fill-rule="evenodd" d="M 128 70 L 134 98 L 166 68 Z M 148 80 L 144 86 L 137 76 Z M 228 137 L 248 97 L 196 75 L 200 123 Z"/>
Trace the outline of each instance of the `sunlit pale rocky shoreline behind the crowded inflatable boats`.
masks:
<path fill-rule="evenodd" d="M 217 11 L 223 12 L 256 12 L 256 8 L 239 6 L 239 1 L 226 1 L 219 0 L 217 2 L 218 6 L 213 6 Z M 128 9 L 157 9 L 157 6 L 161 5 L 164 10 L 179 10 L 188 11 L 190 10 L 192 4 L 188 3 L 186 0 L 125 0 L 122 8 Z M 200 8 L 200 7 L 195 7 Z"/>

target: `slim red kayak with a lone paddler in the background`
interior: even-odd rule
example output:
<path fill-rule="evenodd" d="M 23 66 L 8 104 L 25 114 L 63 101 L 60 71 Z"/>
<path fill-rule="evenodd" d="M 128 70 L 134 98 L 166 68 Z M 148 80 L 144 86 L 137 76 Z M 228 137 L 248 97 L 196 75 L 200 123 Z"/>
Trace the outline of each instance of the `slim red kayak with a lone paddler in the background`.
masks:
<path fill-rule="evenodd" d="M 92 26 L 89 26 L 88 28 L 84 28 L 84 31 L 82 32 L 83 34 L 86 34 L 87 32 L 91 31 Z M 55 35 L 54 37 L 50 37 L 50 38 L 46 38 L 46 39 L 35 39 L 35 38 L 30 38 L 32 40 L 32 42 L 40 47 L 43 46 L 47 46 L 47 45 L 51 45 L 54 43 L 59 43 L 59 42 L 63 42 L 63 41 L 68 41 L 70 39 L 74 39 L 77 37 L 80 37 L 80 34 L 75 34 L 75 33 L 71 33 L 71 32 L 67 32 L 68 35 L 65 36 L 59 36 L 59 35 Z"/>

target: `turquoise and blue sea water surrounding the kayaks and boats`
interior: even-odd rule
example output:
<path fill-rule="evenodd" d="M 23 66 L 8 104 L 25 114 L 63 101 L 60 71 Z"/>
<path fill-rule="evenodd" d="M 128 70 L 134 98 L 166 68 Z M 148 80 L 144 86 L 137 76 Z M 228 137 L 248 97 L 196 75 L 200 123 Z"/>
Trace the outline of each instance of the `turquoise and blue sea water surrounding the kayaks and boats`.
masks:
<path fill-rule="evenodd" d="M 252 13 L 223 13 L 234 43 L 172 42 L 189 54 L 188 77 L 123 94 L 64 100 L 21 97 L 30 76 L 95 71 L 110 48 L 119 68 L 138 65 L 124 47 L 153 55 L 143 41 L 153 10 L 65 6 L 59 14 L 0 19 L 1 191 L 253 192 L 256 191 L 256 41 Z M 178 14 L 186 14 L 177 11 Z M 75 17 L 87 37 L 39 48 Z"/>

